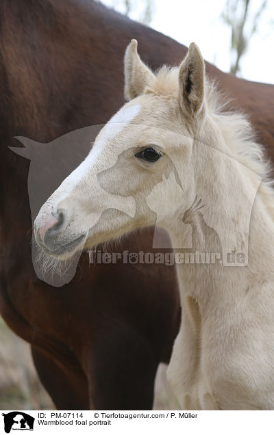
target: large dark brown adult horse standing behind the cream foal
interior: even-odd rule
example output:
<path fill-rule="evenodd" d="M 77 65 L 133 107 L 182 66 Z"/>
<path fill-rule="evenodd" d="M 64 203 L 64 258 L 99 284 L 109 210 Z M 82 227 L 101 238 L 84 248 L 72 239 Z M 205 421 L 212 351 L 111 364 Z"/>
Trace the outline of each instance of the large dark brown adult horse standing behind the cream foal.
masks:
<path fill-rule="evenodd" d="M 15 135 L 50 142 L 102 124 L 123 103 L 122 62 L 131 38 L 151 68 L 176 64 L 186 47 L 97 2 L 3 0 L 1 20 L 1 314 L 32 344 L 42 383 L 61 409 L 147 409 L 158 363 L 169 361 L 179 325 L 173 267 L 96 265 L 82 255 L 59 289 L 32 266 L 29 161 Z M 274 156 L 274 86 L 208 74 L 247 111 Z M 151 251 L 151 229 L 119 251 Z"/>

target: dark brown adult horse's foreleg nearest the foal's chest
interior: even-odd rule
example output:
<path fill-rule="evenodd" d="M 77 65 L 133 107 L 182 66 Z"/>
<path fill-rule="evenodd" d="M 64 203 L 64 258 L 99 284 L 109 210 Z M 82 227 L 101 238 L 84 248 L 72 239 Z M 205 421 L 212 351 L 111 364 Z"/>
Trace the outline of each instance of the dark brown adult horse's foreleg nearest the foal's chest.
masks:
<path fill-rule="evenodd" d="M 97 331 L 88 351 L 92 409 L 151 410 L 158 362 L 145 337 L 112 319 Z"/>

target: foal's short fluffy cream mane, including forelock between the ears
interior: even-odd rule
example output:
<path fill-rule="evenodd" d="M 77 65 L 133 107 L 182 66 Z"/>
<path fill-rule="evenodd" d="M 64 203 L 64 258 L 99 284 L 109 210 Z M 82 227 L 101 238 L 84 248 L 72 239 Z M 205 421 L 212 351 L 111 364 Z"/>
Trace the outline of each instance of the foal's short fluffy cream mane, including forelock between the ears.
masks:
<path fill-rule="evenodd" d="M 155 75 L 155 82 L 145 92 L 166 98 L 178 98 L 179 67 L 164 65 Z M 273 166 L 266 159 L 263 146 L 257 142 L 258 138 L 249 118 L 242 111 L 236 110 L 232 105 L 233 101 L 219 91 L 216 82 L 208 77 L 205 88 L 208 116 L 219 125 L 232 157 L 262 179 L 260 194 L 266 207 L 272 209 L 274 218 Z"/>

